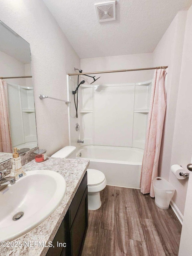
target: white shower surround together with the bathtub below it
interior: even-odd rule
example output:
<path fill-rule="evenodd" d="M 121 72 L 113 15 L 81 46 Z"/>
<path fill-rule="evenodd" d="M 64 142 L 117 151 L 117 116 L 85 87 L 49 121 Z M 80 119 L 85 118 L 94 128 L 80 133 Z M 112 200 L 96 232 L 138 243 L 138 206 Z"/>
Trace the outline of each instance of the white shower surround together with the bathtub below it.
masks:
<path fill-rule="evenodd" d="M 73 102 L 75 84 L 68 76 L 67 83 L 68 100 Z M 70 145 L 77 147 L 77 158 L 89 159 L 89 168 L 105 174 L 107 185 L 140 188 L 151 84 L 152 80 L 83 84 L 79 87 L 78 119 L 73 118 L 74 104 L 68 106 Z M 77 132 L 74 127 L 78 121 L 80 131 Z M 84 144 L 76 145 L 77 139 L 83 139 Z"/>

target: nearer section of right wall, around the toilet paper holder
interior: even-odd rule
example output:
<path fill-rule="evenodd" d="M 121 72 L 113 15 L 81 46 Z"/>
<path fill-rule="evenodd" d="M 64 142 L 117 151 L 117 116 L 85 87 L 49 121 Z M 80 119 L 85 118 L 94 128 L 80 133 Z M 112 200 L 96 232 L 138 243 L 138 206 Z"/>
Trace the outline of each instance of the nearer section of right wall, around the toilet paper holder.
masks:
<path fill-rule="evenodd" d="M 187 170 L 187 164 L 191 162 L 192 155 L 192 7 L 187 12 L 187 21 L 184 36 L 184 47 L 182 56 L 181 75 L 177 98 L 175 129 L 173 134 L 173 147 L 171 165 L 180 164 Z M 185 197 L 187 192 L 188 179 L 178 180 L 170 172 L 169 181 L 176 188 L 173 200 L 184 212 Z"/>

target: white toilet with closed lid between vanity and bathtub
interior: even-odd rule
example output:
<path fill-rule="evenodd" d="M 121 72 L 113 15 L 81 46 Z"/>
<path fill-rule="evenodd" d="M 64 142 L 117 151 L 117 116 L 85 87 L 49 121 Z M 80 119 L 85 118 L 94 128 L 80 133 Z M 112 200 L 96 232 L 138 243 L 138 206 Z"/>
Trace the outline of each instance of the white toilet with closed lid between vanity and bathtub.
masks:
<path fill-rule="evenodd" d="M 66 146 L 55 152 L 51 157 L 76 158 L 76 147 Z M 87 169 L 87 187 L 88 187 L 88 209 L 97 210 L 101 207 L 100 191 L 107 185 L 104 173 L 95 169 Z"/>

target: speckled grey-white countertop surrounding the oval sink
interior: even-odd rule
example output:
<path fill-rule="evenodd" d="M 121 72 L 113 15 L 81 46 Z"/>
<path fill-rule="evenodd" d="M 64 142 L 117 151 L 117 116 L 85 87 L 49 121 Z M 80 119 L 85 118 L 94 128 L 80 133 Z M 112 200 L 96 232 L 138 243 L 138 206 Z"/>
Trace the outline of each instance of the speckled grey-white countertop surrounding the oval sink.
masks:
<path fill-rule="evenodd" d="M 49 247 L 26 247 L 24 242 L 39 241 L 49 242 L 52 241 L 57 233 L 59 226 L 73 200 L 73 197 L 82 181 L 83 176 L 87 170 L 89 161 L 81 159 L 70 158 L 54 158 L 48 157 L 42 163 L 36 163 L 35 160 L 23 166 L 24 171 L 31 170 L 52 170 L 60 173 L 66 181 L 67 190 L 66 194 L 59 204 L 57 209 L 38 227 L 30 231 L 24 236 L 19 237 L 14 241 L 22 243 L 22 247 L 0 247 L 0 255 L 2 256 L 44 256 L 46 255 Z"/>

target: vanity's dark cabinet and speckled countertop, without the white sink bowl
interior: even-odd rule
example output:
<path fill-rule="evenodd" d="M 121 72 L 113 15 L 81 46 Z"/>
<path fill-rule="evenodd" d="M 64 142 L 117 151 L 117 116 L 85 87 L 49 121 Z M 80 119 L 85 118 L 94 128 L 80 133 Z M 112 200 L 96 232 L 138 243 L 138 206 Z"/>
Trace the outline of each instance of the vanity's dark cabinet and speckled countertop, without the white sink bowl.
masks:
<path fill-rule="evenodd" d="M 5 163 L 2 168 L 7 168 L 8 163 Z M 30 170 L 52 170 L 61 174 L 67 185 L 66 194 L 57 209 L 46 220 L 13 241 L 14 243 L 19 242 L 21 247 L 0 247 L 0 255 L 78 256 L 81 254 L 88 227 L 86 172 L 88 164 L 89 161 L 83 159 L 48 157 L 42 163 L 32 160 L 23 165 L 26 174 Z M 19 221 L 22 221 L 22 218 Z M 35 245 L 35 241 L 40 244 Z M 27 246 L 29 242 L 31 242 L 31 246 Z M 42 242 L 43 246 L 41 246 Z M 49 247 L 49 244 L 54 245 L 54 248 L 53 246 Z"/>

